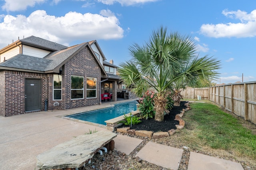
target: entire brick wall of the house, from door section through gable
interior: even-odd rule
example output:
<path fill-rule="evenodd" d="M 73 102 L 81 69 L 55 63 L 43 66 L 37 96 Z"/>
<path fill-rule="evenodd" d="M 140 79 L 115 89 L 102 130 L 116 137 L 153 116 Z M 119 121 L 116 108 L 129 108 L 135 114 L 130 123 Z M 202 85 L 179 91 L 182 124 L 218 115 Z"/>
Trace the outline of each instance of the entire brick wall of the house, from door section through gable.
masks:
<path fill-rule="evenodd" d="M 45 100 L 48 99 L 48 110 L 71 109 L 76 107 L 100 104 L 101 70 L 92 53 L 85 47 L 64 65 L 62 75 L 62 100 L 54 101 L 53 74 L 39 74 L 5 70 L 0 72 L 0 115 L 12 116 L 25 114 L 25 79 L 41 79 L 42 96 L 41 111 L 45 110 Z M 71 100 L 71 75 L 84 76 L 84 99 Z M 86 98 L 86 77 L 97 78 L 97 98 Z M 54 106 L 58 102 L 58 106 Z M 32 111 L 30 111 L 32 112 Z"/>

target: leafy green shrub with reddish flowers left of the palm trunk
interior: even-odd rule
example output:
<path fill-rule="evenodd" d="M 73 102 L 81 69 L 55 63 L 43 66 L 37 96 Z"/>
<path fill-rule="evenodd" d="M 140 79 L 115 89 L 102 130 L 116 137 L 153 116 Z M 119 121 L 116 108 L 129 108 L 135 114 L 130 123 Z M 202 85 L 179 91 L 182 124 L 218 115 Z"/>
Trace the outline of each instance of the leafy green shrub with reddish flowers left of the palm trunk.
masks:
<path fill-rule="evenodd" d="M 143 119 L 154 118 L 156 111 L 154 110 L 155 93 L 147 91 L 143 98 L 140 99 L 140 112 Z"/>

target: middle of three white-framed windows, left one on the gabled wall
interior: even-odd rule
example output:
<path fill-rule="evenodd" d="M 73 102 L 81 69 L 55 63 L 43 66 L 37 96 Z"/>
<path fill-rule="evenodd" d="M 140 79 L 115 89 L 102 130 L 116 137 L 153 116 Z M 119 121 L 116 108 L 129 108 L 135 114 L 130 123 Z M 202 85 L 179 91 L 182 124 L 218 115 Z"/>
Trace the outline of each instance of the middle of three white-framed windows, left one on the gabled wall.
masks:
<path fill-rule="evenodd" d="M 71 99 L 84 98 L 84 77 L 71 76 Z"/>

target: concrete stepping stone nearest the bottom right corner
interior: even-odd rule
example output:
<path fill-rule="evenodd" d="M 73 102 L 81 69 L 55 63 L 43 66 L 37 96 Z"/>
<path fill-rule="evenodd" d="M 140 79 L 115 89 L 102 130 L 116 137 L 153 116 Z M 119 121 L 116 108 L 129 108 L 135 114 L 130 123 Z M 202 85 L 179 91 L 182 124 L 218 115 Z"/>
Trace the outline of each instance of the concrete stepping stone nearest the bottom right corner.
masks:
<path fill-rule="evenodd" d="M 190 152 L 188 170 L 244 170 L 238 162 Z"/>

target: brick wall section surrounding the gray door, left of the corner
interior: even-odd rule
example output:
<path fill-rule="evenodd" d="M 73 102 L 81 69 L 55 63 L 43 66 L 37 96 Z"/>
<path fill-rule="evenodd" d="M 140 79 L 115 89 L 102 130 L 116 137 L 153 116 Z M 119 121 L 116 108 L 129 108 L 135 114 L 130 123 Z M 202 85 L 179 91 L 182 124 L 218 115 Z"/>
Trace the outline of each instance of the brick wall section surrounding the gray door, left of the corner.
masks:
<path fill-rule="evenodd" d="M 19 72 L 19 71 L 2 71 L 0 74 L 1 83 L 4 82 L 3 88 L 0 88 L 0 115 L 12 116 L 29 113 L 25 111 L 25 79 L 36 78 L 42 81 L 42 106 L 44 110 L 44 99 L 46 98 L 46 74 Z"/>

